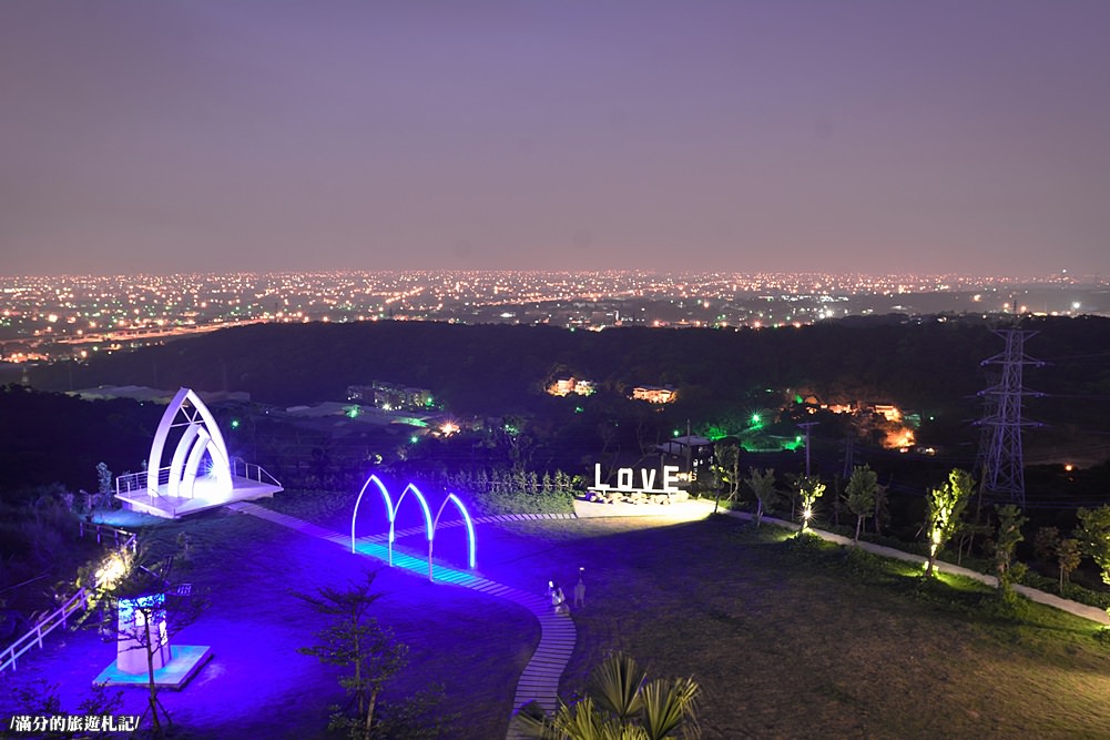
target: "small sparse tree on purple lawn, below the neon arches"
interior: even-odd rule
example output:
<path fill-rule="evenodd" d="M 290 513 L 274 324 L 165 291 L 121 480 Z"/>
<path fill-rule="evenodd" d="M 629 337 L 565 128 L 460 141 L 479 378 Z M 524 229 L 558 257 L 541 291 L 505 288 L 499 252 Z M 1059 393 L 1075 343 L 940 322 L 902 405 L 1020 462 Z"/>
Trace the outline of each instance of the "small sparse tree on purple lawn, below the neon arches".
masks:
<path fill-rule="evenodd" d="M 321 587 L 315 594 L 294 592 L 327 618 L 327 624 L 315 633 L 319 642 L 297 652 L 352 671 L 340 678 L 340 686 L 352 698 L 356 711 L 351 716 L 350 711 L 333 707 L 327 728 L 346 730 L 347 737 L 356 740 L 379 734 L 380 723 L 374 717 L 377 698 L 385 683 L 405 667 L 408 653 L 407 646 L 396 641 L 391 630 L 369 616 L 370 608 L 382 597 L 371 591 L 375 576 L 376 571 L 367 571 L 365 582 L 346 589 Z"/>

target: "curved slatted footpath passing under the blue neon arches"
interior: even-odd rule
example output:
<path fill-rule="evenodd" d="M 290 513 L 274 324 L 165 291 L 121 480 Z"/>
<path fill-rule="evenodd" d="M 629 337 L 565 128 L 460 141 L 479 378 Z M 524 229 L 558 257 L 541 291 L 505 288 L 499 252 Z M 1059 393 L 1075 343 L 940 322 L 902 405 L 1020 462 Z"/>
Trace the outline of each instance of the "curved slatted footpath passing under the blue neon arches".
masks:
<path fill-rule="evenodd" d="M 322 540 L 327 540 L 329 542 L 334 542 L 344 549 L 351 547 L 351 538 L 346 534 L 340 534 L 339 532 L 313 524 L 312 522 L 304 521 L 303 519 L 297 519 L 296 517 L 290 517 L 276 511 L 271 511 L 270 509 L 260 507 L 256 503 L 240 501 L 228 504 L 228 508 L 233 511 L 258 517 L 259 519 L 265 519 L 266 521 L 294 529 L 312 537 L 317 537 Z M 536 519 L 574 519 L 574 514 L 501 514 L 476 517 L 474 519 L 474 523 L 483 524 Z M 458 523 L 444 522 L 441 526 L 448 524 Z M 422 529 L 423 528 L 417 527 L 412 530 L 396 532 L 396 534 L 403 536 L 405 533 L 417 533 L 422 531 Z M 355 549 L 361 554 L 387 561 L 389 550 L 381 544 L 381 542 L 384 542 L 385 539 L 385 534 L 373 538 L 361 538 L 357 541 Z M 398 568 L 412 570 L 415 573 L 420 573 L 425 577 L 427 574 L 427 560 L 413 558 L 412 556 L 404 554 L 402 552 L 393 552 L 393 564 Z M 513 711 L 515 712 L 529 701 L 535 701 L 543 707 L 545 712 L 554 712 L 558 708 L 558 680 L 559 677 L 563 676 L 563 669 L 566 668 L 567 662 L 571 660 L 571 653 L 574 652 L 574 643 L 577 640 L 577 631 L 574 628 L 574 620 L 571 619 L 568 614 L 554 613 L 551 602 L 542 596 L 536 596 L 528 593 L 527 591 L 522 591 L 519 589 L 497 583 L 496 581 L 480 578 L 467 571 L 436 566 L 434 574 L 436 581 L 454 583 L 481 593 L 508 599 L 509 601 L 524 607 L 535 616 L 536 620 L 539 622 L 539 644 L 536 646 L 536 651 L 532 654 L 532 659 L 528 661 L 528 664 L 524 667 L 524 671 L 521 673 L 521 679 L 516 683 L 516 696 L 513 698 Z M 509 721 L 507 734 L 508 740 L 517 740 L 518 738 L 525 737 L 527 736 L 521 733 L 517 729 L 516 722 Z"/>

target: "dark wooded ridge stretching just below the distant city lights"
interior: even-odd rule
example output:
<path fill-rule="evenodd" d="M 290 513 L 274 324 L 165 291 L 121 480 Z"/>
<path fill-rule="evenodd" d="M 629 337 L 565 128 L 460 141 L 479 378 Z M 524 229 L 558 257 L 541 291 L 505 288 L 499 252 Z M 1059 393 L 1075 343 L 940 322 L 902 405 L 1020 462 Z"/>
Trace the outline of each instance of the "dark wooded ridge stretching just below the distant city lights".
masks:
<path fill-rule="evenodd" d="M 1069 439 L 1106 434 L 1110 320 L 1046 318 L 1025 326 L 1038 332 L 1027 353 L 1050 361 L 1027 368 L 1026 384 L 1051 394 L 1030 399 L 1030 414 Z M 776 394 L 789 389 L 830 402 L 894 402 L 932 417 L 948 434 L 957 427 L 967 430 L 981 414 L 977 392 L 992 382 L 987 371 L 998 371 L 981 363 L 1002 349 L 1002 340 L 981 322 L 951 317 L 855 318 L 740 331 L 259 324 L 100 357 L 87 367 L 38 368 L 31 378 L 36 387 L 53 390 L 70 382 L 243 390 L 255 401 L 285 406 L 343 400 L 349 384 L 384 380 L 427 388 L 455 413 L 500 416 L 544 412 L 554 402 L 543 394 L 544 384 L 574 374 L 599 384 L 587 411 L 592 404 L 620 413 L 620 399 L 633 386 L 670 384 L 679 400 L 664 410 L 667 423 L 689 418 L 727 428 L 769 399 L 767 389 Z"/>

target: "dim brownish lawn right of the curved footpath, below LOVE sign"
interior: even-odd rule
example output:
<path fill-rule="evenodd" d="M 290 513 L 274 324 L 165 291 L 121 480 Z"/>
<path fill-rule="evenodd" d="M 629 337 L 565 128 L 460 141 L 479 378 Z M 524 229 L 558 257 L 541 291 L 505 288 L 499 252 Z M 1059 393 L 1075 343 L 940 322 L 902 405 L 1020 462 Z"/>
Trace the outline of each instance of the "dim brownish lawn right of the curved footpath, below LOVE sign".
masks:
<path fill-rule="evenodd" d="M 1028 602 L 1017 619 L 976 584 L 921 588 L 902 563 L 733 519 L 646 523 L 526 522 L 486 544 L 504 554 L 481 564 L 507 582 L 522 562 L 587 568 L 567 694 L 620 648 L 697 678 L 706 738 L 1110 737 L 1092 622 Z M 522 560 L 537 538 L 548 549 Z"/>

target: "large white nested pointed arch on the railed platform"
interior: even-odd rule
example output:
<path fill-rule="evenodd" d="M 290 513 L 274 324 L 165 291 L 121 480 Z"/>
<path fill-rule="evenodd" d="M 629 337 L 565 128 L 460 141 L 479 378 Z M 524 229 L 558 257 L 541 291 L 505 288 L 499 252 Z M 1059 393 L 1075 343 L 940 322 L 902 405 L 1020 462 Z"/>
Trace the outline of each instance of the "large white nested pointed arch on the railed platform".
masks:
<path fill-rule="evenodd" d="M 162 467 L 162 454 L 165 451 L 167 438 L 172 429 L 184 427 L 178 447 L 173 451 L 168 469 Z M 212 467 L 201 470 L 201 460 L 208 452 Z M 147 463 L 147 492 L 159 496 L 161 477 L 165 472 L 165 494 L 168 497 L 193 498 L 193 488 L 198 478 L 214 479 L 216 491 L 206 492 L 206 498 L 225 498 L 231 496 L 231 457 L 228 446 L 220 433 L 215 418 L 204 402 L 189 388 L 178 391 L 158 424 L 154 442 L 150 448 L 150 459 Z"/>

